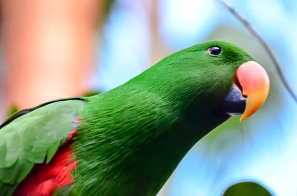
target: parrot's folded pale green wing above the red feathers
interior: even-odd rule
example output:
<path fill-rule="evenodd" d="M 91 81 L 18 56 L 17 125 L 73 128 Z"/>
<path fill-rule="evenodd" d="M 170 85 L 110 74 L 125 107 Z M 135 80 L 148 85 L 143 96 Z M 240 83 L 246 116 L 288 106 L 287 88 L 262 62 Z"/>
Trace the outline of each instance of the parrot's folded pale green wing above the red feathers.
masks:
<path fill-rule="evenodd" d="M 10 196 L 35 164 L 49 163 L 79 125 L 84 98 L 60 99 L 13 114 L 0 125 L 0 196 Z"/>

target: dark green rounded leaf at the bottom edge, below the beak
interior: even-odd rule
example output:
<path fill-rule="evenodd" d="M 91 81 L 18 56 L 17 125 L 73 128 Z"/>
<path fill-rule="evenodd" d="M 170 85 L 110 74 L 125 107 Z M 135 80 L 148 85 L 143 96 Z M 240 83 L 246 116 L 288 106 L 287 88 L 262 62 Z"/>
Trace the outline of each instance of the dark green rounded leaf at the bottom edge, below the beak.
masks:
<path fill-rule="evenodd" d="M 241 182 L 229 187 L 223 196 L 272 196 L 264 187 L 254 182 Z"/>

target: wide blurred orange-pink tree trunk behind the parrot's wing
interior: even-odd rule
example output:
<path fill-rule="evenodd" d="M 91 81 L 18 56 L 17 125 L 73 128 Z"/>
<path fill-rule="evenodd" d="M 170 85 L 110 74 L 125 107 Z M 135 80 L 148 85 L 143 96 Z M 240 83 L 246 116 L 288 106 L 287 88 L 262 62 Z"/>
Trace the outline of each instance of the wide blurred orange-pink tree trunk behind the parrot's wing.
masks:
<path fill-rule="evenodd" d="M 6 106 L 23 109 L 85 92 L 102 2 L 1 1 Z"/>

